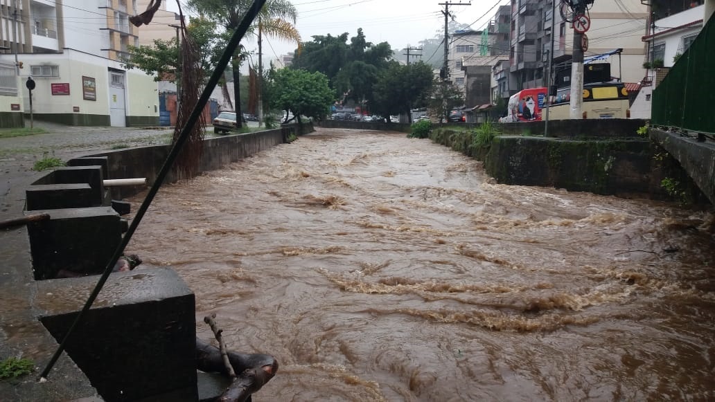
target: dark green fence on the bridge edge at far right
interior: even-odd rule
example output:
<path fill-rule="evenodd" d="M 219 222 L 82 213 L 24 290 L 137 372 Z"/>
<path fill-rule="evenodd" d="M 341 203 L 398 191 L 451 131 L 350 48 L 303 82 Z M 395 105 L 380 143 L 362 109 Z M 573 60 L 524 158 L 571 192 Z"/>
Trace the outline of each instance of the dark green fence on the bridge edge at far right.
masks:
<path fill-rule="evenodd" d="M 715 133 L 715 18 L 653 91 L 651 122 Z"/>

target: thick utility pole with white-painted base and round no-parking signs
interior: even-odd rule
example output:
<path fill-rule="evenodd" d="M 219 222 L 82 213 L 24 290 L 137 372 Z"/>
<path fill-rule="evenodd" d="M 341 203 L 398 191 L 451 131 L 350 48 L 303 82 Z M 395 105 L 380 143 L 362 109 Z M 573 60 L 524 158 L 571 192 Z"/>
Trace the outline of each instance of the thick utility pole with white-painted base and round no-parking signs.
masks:
<path fill-rule="evenodd" d="M 586 2 L 593 0 L 572 0 L 573 3 L 573 59 L 571 59 L 571 113 L 569 118 L 582 119 L 583 106 L 583 33 L 588 31 L 590 21 L 586 14 Z M 585 29 L 583 29 L 585 27 Z"/>

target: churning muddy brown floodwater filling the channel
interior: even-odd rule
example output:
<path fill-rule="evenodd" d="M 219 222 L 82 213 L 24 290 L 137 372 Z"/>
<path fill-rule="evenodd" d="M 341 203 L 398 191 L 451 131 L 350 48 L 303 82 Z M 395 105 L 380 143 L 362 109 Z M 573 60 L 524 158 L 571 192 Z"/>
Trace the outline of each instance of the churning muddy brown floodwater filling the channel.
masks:
<path fill-rule="evenodd" d="M 705 401 L 712 226 L 319 129 L 164 186 L 127 251 L 184 278 L 199 337 L 217 313 L 230 348 L 276 356 L 255 401 Z"/>

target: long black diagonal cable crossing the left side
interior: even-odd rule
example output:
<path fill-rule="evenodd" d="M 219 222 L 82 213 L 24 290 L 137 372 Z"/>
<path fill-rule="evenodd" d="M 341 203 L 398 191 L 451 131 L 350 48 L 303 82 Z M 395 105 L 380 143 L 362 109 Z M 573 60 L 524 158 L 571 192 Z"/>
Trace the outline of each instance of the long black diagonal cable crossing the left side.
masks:
<path fill-rule="evenodd" d="M 209 101 L 209 96 L 211 96 L 211 92 L 214 90 L 216 84 L 218 83 L 219 79 L 221 78 L 221 75 L 222 75 L 224 69 L 228 65 L 229 59 L 231 59 L 231 56 L 232 56 L 233 52 L 236 50 L 239 42 L 241 41 L 241 39 L 243 39 L 243 36 L 245 36 L 246 31 L 248 31 L 249 26 L 252 24 L 253 20 L 256 18 L 256 16 L 260 12 L 261 8 L 263 7 L 263 5 L 265 4 L 266 1 L 267 0 L 254 0 L 253 3 L 251 4 L 251 8 L 248 9 L 246 14 L 243 16 L 243 19 L 241 20 L 240 24 L 237 26 L 236 31 L 233 33 L 231 40 L 229 41 L 229 43 L 226 46 L 224 54 L 222 54 L 221 59 L 219 59 L 217 65 L 216 65 L 215 71 L 213 72 L 213 74 L 211 75 L 211 78 L 209 78 L 209 81 L 207 82 L 206 86 L 204 87 L 204 91 L 202 92 L 201 96 L 199 97 L 199 100 L 197 101 L 196 106 L 194 106 L 194 110 L 191 112 L 191 115 L 189 116 L 189 119 L 186 122 L 186 126 L 184 126 L 181 133 L 179 134 L 179 138 L 174 143 L 174 146 L 172 147 L 171 151 L 169 151 L 167 160 L 164 161 L 164 166 L 162 166 L 162 169 L 159 171 L 159 174 L 157 174 L 157 179 L 154 181 L 154 185 L 152 186 L 151 189 L 149 189 L 147 198 L 145 198 L 144 202 L 142 202 L 142 206 L 139 206 L 137 215 L 134 216 L 134 219 L 132 219 L 132 224 L 129 225 L 129 228 L 127 229 L 127 233 L 125 233 L 124 237 L 122 238 L 122 242 L 119 243 L 119 246 L 117 246 L 117 250 L 114 251 L 114 255 L 112 256 L 112 259 L 107 264 L 107 267 L 104 268 L 104 273 L 102 273 L 102 277 L 99 278 L 99 281 L 97 282 L 97 286 L 94 287 L 92 294 L 89 295 L 89 298 L 87 299 L 87 303 L 84 304 L 82 311 L 79 311 L 79 314 L 77 314 L 77 317 L 74 318 L 74 322 L 72 322 L 72 325 L 69 327 L 69 331 L 67 331 L 64 338 L 62 338 L 62 341 L 59 344 L 57 351 L 55 351 L 51 360 L 49 361 L 49 363 L 47 363 L 47 366 L 44 368 L 44 371 L 42 371 L 42 373 L 40 374 L 41 379 L 47 378 L 47 374 L 52 369 L 52 366 L 54 366 L 54 363 L 57 362 L 57 359 L 61 355 L 62 351 L 64 351 L 65 343 L 67 342 L 67 339 L 69 339 L 69 336 L 71 336 L 72 331 L 74 331 L 74 328 L 77 326 L 77 323 L 79 323 L 79 321 L 82 321 L 82 317 L 84 316 L 85 313 L 87 313 L 87 311 L 89 311 L 89 308 L 92 307 L 92 303 L 94 303 L 94 300 L 99 295 L 99 291 L 102 291 L 102 286 L 104 286 L 104 283 L 107 282 L 107 278 L 109 278 L 109 274 L 112 273 L 112 268 L 114 268 L 114 264 L 117 263 L 117 260 L 119 260 L 119 257 L 122 256 L 122 253 L 124 253 L 124 248 L 127 246 L 127 243 L 129 243 L 129 240 L 132 238 L 132 234 L 134 234 L 134 231 L 137 230 L 137 226 L 139 226 L 139 222 L 142 221 L 142 217 L 144 216 L 144 213 L 146 213 L 147 209 L 149 209 L 149 205 L 152 203 L 154 196 L 157 195 L 157 192 L 159 191 L 159 187 L 164 182 L 164 179 L 166 179 L 167 174 L 169 174 L 169 170 L 172 169 L 172 165 L 174 164 L 174 161 L 177 159 L 177 156 L 179 155 L 179 151 L 181 151 L 182 146 L 184 145 L 184 142 L 186 142 L 187 138 L 189 137 L 192 127 L 194 126 L 194 124 L 196 124 L 197 120 L 199 119 L 199 115 L 202 113 L 202 111 L 204 109 L 204 106 L 206 106 L 207 102 Z"/>

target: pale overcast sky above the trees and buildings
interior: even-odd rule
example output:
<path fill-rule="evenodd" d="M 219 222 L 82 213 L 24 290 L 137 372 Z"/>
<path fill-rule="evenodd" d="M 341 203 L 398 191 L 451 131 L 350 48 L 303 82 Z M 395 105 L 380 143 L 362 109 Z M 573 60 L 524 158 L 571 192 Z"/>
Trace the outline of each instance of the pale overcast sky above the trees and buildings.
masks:
<path fill-rule="evenodd" d="M 362 28 L 366 39 L 373 44 L 387 41 L 393 49 L 403 49 L 408 45 L 418 46 L 419 41 L 433 38 L 437 31 L 444 31 L 445 20 L 441 11 L 445 6 L 440 3 L 445 2 L 460 3 L 460 0 L 295 0 L 292 4 L 298 11 L 296 26 L 303 41 L 311 41 L 314 35 L 337 36 L 343 32 L 352 37 L 358 28 Z M 472 24 L 472 29 L 477 31 L 494 16 L 496 4 L 509 4 L 508 0 L 461 2 L 461 6 L 450 5 L 449 11 L 455 21 Z M 167 0 L 167 8 L 177 11 L 176 0 Z M 252 49 L 255 41 L 248 41 L 245 45 Z M 293 50 L 294 44 L 268 38 L 263 52 L 265 58 L 275 59 Z M 425 60 L 429 57 L 428 54 L 423 55 Z"/>

